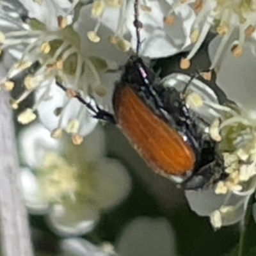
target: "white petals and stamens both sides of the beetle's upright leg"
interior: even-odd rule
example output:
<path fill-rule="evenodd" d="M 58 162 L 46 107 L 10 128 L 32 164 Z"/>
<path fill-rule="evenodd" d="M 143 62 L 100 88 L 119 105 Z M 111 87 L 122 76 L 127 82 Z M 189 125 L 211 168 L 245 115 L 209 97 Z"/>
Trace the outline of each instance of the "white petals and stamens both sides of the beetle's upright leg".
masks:
<path fill-rule="evenodd" d="M 170 3 L 171 2 L 171 3 Z M 100 3 L 100 4 L 99 4 Z M 138 6 L 140 29 L 140 55 L 149 58 L 161 58 L 173 55 L 186 48 L 195 13 L 187 6 L 170 6 L 172 1 L 143 1 Z M 100 7 L 99 7 L 100 6 Z M 113 32 L 109 40 L 123 51 L 128 51 L 130 44 L 136 52 L 138 38 L 134 27 L 134 1 L 122 1 L 112 6 L 108 1 L 94 1 L 92 15 Z M 174 17 L 175 15 L 175 17 Z M 97 29 L 95 29 L 97 32 Z M 131 39 L 130 39 L 131 38 Z M 130 43 L 131 42 L 131 43 Z"/>

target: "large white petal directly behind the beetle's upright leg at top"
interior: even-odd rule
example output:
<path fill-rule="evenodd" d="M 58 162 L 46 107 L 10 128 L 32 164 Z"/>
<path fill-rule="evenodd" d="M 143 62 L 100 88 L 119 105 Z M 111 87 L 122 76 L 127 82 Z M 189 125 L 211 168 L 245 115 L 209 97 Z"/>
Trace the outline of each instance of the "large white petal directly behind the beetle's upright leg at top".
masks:
<path fill-rule="evenodd" d="M 195 13 L 188 5 L 177 8 L 175 22 L 172 25 L 166 25 L 164 24 L 164 17 L 168 15 L 170 5 L 165 1 L 145 2 L 151 8 L 151 11 L 140 10 L 139 20 L 143 24 L 143 28 L 140 30 L 141 56 L 149 58 L 171 56 L 191 43 L 189 35 L 195 19 Z M 137 37 L 133 20 L 133 1 L 129 1 L 126 25 L 132 35 L 132 49 L 135 51 Z"/>

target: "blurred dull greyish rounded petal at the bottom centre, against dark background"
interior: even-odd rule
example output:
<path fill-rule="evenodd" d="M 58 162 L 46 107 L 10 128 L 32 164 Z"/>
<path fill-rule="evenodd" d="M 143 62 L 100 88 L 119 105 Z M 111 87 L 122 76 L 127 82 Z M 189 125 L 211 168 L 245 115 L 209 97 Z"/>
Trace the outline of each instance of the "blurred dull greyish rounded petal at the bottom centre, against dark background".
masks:
<path fill-rule="evenodd" d="M 164 218 L 138 217 L 120 234 L 116 252 L 123 256 L 174 256 L 175 234 Z"/>

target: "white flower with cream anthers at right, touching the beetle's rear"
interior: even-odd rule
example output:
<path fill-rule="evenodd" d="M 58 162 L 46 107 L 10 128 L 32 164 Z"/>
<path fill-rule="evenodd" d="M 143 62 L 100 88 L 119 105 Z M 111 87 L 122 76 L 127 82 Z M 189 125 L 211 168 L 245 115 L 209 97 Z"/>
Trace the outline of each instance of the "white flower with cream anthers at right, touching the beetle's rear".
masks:
<path fill-rule="evenodd" d="M 188 80 L 186 75 L 172 74 L 163 83 L 182 91 Z M 214 228 L 231 225 L 243 220 L 256 188 L 256 122 L 243 105 L 221 105 L 216 93 L 197 79 L 191 81 L 186 95 L 188 108 L 210 124 L 205 135 L 218 143 L 216 154 L 223 158 L 227 175 L 209 188 L 187 191 L 189 205 L 197 214 L 209 216 Z"/>

